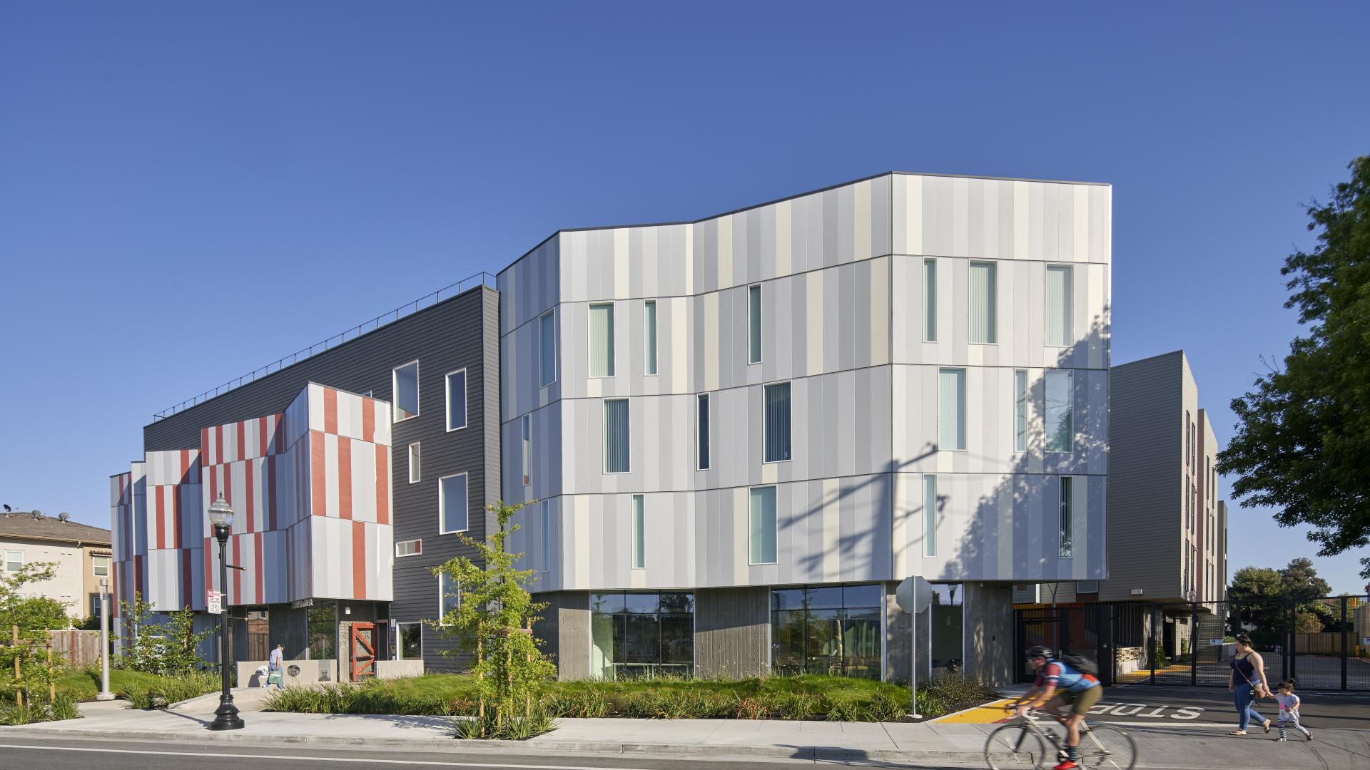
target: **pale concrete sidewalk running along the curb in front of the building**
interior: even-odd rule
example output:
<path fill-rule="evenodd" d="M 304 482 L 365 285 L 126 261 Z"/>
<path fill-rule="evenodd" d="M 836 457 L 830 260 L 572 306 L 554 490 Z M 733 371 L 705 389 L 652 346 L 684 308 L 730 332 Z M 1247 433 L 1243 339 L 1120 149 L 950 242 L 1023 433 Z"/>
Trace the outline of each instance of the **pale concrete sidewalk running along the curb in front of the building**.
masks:
<path fill-rule="evenodd" d="M 545 751 L 644 754 L 690 758 L 790 758 L 804 760 L 984 763 L 985 736 L 996 725 L 797 722 L 737 719 L 559 719 L 558 729 L 529 741 L 458 741 L 441 717 L 360 714 L 245 714 L 247 728 L 211 733 L 203 704 L 186 711 L 134 711 L 118 703 L 85 708 L 84 719 L 0 728 L 7 734 L 66 738 L 129 738 L 404 747 L 414 751 Z M 1266 736 L 1230 737 L 1229 728 L 1140 726 L 1144 767 L 1306 770 L 1370 766 L 1370 733 L 1319 730 L 1317 741 L 1275 743 Z M 1271 733 L 1271 737 L 1274 733 Z"/>

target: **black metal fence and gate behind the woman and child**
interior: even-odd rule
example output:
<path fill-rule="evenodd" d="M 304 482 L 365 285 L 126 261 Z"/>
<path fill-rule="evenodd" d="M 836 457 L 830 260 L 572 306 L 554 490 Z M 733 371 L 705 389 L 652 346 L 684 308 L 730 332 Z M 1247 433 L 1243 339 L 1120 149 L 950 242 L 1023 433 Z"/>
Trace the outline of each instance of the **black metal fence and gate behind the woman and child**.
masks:
<path fill-rule="evenodd" d="M 1293 678 L 1308 691 L 1370 691 L 1370 597 L 1297 601 L 1092 603 L 1017 610 L 1021 681 L 1034 645 L 1095 660 L 1106 686 L 1228 686 L 1233 637 L 1247 633 L 1271 686 Z M 1356 619 L 1360 619 L 1358 623 Z"/>

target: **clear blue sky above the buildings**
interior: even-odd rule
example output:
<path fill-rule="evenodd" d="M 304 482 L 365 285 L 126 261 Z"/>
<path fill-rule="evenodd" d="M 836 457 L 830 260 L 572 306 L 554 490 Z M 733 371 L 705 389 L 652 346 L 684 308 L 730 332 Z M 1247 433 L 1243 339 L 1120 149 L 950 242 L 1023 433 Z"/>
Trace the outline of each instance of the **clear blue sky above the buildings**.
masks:
<path fill-rule="evenodd" d="M 489 5 L 0 5 L 0 500 L 108 526 L 159 408 L 558 227 L 886 170 L 1111 182 L 1114 362 L 1188 351 L 1225 440 L 1370 152 L 1363 3 Z"/>

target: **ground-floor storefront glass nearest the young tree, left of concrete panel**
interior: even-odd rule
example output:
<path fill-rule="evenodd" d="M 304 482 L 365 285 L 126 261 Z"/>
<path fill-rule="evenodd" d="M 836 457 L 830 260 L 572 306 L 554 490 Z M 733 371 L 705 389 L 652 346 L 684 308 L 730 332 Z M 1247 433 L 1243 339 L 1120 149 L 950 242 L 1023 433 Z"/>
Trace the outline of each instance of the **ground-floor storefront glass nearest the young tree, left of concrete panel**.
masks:
<path fill-rule="evenodd" d="M 695 595 L 590 593 L 590 675 L 695 673 Z"/>

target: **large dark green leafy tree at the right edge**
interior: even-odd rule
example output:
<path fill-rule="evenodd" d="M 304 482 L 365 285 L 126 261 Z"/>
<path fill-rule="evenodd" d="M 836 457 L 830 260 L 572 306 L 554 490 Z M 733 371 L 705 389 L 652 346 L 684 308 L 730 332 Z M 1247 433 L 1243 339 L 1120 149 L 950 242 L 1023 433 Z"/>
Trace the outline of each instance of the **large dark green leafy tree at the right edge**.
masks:
<path fill-rule="evenodd" d="M 1218 454 L 1218 471 L 1240 475 L 1243 507 L 1311 525 L 1319 556 L 1370 544 L 1370 156 L 1349 169 L 1326 206 L 1306 207 L 1318 245 L 1280 270 L 1307 334 L 1233 399 L 1237 432 Z M 1360 564 L 1370 577 L 1370 558 Z"/>

